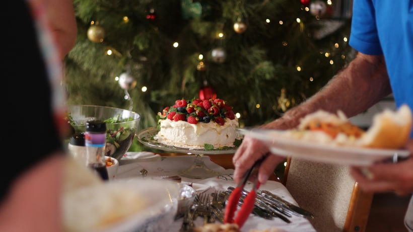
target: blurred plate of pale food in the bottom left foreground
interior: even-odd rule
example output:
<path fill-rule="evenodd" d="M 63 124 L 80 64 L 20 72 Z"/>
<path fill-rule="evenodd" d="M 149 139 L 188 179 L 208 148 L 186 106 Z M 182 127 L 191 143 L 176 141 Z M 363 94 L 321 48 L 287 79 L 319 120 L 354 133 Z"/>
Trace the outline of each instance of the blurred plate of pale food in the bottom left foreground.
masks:
<path fill-rule="evenodd" d="M 163 180 L 124 179 L 83 187 L 65 196 L 66 231 L 169 231 L 179 194 L 176 183 Z M 130 207 L 134 211 L 127 213 Z M 113 218 L 116 213 L 123 217 Z"/>

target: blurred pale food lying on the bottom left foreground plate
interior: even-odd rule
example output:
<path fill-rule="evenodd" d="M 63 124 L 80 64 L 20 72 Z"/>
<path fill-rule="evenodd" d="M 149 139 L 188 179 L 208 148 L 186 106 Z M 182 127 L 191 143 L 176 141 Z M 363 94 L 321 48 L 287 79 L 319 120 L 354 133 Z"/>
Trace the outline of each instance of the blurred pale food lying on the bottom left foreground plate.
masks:
<path fill-rule="evenodd" d="M 78 188 L 64 194 L 63 225 L 66 232 L 95 231 L 144 211 L 145 196 L 129 186 L 109 182 Z"/>

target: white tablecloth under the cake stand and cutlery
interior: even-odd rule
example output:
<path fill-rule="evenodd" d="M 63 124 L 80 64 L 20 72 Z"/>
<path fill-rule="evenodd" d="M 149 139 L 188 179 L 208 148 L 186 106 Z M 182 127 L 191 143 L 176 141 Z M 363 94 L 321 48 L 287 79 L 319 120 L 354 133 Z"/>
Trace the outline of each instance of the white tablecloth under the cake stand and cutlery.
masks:
<path fill-rule="evenodd" d="M 146 169 L 148 171 L 146 178 L 159 178 L 162 176 L 178 175 L 179 170 L 188 168 L 190 165 L 193 164 L 195 159 L 195 156 L 192 155 L 176 157 L 160 157 L 156 154 L 152 154 L 151 156 L 151 154 L 148 153 L 128 153 L 128 155 L 129 156 L 124 160 L 123 158 L 122 160 L 120 160 L 120 166 L 116 174 L 116 179 L 143 178 L 140 173 L 142 169 Z M 225 154 L 223 156 L 225 156 Z M 229 186 L 236 186 L 235 182 L 232 179 L 232 174 L 234 170 L 225 170 L 223 167 L 212 162 L 208 156 L 202 157 L 202 160 L 207 167 L 217 171 L 220 175 L 208 179 L 189 179 L 181 177 L 182 182 L 191 182 L 193 188 L 197 192 L 208 193 L 212 193 L 215 190 L 226 190 Z M 248 182 L 245 186 L 245 189 L 250 190 L 251 187 L 252 183 Z M 280 182 L 267 181 L 267 183 L 261 185 L 259 189 L 268 190 L 291 203 L 297 204 L 297 202 L 290 195 L 286 187 Z M 291 223 L 286 223 L 283 220 L 276 217 L 268 220 L 251 214 L 248 220 L 245 222 L 244 226 L 242 227 L 242 231 L 247 232 L 250 229 L 267 229 L 270 227 L 276 227 L 289 232 L 316 231 L 307 218 L 293 215 L 289 219 L 291 220 Z M 201 226 L 202 223 L 202 218 L 198 217 L 195 220 L 196 226 Z M 176 220 L 174 224 L 170 227 L 170 231 L 179 232 L 181 224 L 182 219 Z"/>

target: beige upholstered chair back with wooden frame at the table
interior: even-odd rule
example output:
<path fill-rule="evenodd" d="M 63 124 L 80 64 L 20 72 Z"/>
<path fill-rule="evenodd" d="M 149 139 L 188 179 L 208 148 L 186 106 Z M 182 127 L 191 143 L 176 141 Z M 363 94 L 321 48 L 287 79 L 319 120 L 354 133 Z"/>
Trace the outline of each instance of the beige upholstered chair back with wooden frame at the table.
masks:
<path fill-rule="evenodd" d="M 287 159 L 282 183 L 311 211 L 318 232 L 364 232 L 373 194 L 360 190 L 348 166 Z"/>

